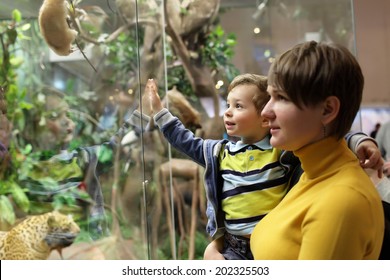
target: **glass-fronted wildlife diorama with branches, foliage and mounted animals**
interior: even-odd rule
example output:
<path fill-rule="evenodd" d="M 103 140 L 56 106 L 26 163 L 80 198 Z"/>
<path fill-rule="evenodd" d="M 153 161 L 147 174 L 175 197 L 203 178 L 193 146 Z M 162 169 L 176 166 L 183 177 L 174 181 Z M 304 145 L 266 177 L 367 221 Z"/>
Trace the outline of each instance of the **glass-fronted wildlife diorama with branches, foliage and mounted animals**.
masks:
<path fill-rule="evenodd" d="M 188 129 L 222 139 L 239 73 L 267 75 L 308 40 L 357 52 L 350 0 L 7 0 L 0 10 L 0 230 L 15 238 L 3 242 L 20 238 L 4 259 L 202 259 L 204 168 L 146 117 L 148 79 Z M 390 119 L 387 102 L 367 114 Z"/>

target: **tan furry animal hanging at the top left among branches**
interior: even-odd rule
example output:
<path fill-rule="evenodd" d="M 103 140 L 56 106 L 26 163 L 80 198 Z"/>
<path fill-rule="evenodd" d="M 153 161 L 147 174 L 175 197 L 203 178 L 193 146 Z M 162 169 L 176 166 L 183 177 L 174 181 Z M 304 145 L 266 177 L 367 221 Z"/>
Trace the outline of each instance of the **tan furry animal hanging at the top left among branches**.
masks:
<path fill-rule="evenodd" d="M 72 43 L 77 31 L 69 26 L 69 3 L 65 0 L 44 0 L 39 10 L 39 28 L 49 47 L 58 55 L 66 56 L 75 49 Z"/>

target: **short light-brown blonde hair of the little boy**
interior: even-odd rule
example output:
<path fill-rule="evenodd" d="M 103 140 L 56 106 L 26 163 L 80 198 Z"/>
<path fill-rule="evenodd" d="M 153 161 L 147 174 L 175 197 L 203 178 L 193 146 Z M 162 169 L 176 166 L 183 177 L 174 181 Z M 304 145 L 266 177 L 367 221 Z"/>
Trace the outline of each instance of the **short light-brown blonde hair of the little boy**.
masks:
<path fill-rule="evenodd" d="M 228 87 L 228 92 L 240 85 L 254 85 L 258 88 L 258 94 L 253 97 L 253 103 L 260 114 L 269 100 L 267 93 L 267 77 L 262 75 L 245 73 L 236 76 Z"/>

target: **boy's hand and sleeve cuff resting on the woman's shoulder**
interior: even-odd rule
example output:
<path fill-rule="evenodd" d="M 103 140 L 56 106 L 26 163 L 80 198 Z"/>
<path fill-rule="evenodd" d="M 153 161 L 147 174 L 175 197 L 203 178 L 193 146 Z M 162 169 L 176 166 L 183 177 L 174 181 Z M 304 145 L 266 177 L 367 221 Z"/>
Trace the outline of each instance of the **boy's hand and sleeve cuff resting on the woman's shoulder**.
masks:
<path fill-rule="evenodd" d="M 375 139 L 367 136 L 363 132 L 348 133 L 346 135 L 348 147 L 356 154 L 360 165 L 367 169 L 378 171 L 378 177 L 383 175 L 383 159 Z"/>

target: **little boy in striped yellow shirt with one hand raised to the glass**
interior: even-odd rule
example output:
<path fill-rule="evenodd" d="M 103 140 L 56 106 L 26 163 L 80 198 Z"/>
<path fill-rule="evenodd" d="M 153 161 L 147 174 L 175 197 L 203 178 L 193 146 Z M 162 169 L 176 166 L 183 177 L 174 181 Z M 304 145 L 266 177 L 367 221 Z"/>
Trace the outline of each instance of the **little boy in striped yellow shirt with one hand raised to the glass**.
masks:
<path fill-rule="evenodd" d="M 299 166 L 291 153 L 270 145 L 269 129 L 261 116 L 268 102 L 266 89 L 267 79 L 254 74 L 239 75 L 231 82 L 224 123 L 229 136 L 240 137 L 232 142 L 195 137 L 163 108 L 155 82 L 149 80 L 146 85 L 154 121 L 166 139 L 205 167 L 206 230 L 211 236 L 219 230 L 224 234 L 220 249 L 225 259 L 253 259 L 252 230 L 283 199 Z"/>

